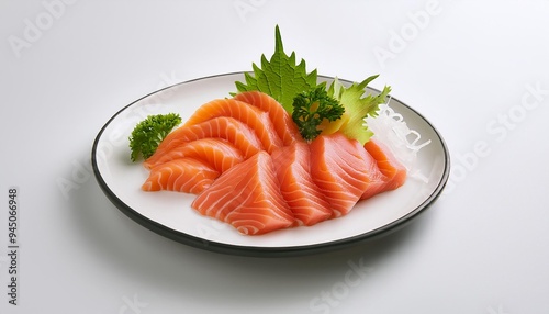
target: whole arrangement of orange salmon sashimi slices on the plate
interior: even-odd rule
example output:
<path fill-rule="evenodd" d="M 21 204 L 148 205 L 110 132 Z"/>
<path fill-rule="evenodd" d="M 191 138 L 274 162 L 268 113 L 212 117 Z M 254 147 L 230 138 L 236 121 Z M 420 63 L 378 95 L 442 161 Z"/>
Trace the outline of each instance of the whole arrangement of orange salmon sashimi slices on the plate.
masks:
<path fill-rule="evenodd" d="M 361 145 L 332 130 L 305 142 L 290 113 L 259 91 L 204 103 L 144 165 L 144 191 L 198 194 L 198 213 L 244 235 L 346 215 L 407 176 L 374 138 Z"/>

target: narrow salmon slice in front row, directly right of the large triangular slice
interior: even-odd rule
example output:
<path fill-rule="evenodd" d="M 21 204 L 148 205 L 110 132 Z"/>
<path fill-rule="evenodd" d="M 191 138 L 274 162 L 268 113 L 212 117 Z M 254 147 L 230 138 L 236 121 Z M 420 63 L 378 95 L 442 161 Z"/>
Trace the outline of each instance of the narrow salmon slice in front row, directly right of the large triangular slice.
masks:
<path fill-rule="evenodd" d="M 311 226 L 332 217 L 333 211 L 311 177 L 306 143 L 278 148 L 271 154 L 282 197 L 299 225 Z"/>

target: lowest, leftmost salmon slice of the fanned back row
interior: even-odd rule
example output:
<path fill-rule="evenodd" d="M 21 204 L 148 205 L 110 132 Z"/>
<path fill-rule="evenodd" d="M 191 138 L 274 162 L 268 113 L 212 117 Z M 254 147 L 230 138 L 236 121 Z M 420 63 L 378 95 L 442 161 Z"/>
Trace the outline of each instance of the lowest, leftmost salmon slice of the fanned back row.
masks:
<path fill-rule="evenodd" d="M 219 171 L 200 160 L 180 158 L 153 168 L 142 190 L 198 194 L 210 187 L 219 176 Z"/>

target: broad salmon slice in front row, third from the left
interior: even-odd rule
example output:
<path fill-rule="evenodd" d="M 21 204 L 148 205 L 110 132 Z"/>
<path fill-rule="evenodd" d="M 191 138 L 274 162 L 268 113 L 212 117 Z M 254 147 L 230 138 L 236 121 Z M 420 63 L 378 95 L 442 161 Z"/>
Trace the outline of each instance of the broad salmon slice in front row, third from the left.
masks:
<path fill-rule="evenodd" d="M 349 213 L 369 184 L 382 176 L 362 145 L 340 132 L 320 135 L 310 148 L 311 176 L 332 205 L 333 217 Z"/>

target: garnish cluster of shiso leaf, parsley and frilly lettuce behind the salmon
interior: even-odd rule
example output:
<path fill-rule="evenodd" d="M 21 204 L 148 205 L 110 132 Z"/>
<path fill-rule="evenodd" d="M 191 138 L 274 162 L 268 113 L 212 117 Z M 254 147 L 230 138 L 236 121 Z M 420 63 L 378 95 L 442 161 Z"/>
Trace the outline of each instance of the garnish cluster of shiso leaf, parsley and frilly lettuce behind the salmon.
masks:
<path fill-rule="evenodd" d="M 256 64 L 251 66 L 254 72 L 245 74 L 246 82 L 235 82 L 237 91 L 261 91 L 274 98 L 292 115 L 305 139 L 314 138 L 318 134 L 341 132 L 347 137 L 357 139 L 363 145 L 373 135 L 368 130 L 365 117 L 376 116 L 379 104 L 385 101 L 391 91 L 391 88 L 385 86 L 378 96 L 365 96 L 366 87 L 378 77 L 377 75 L 349 87 L 343 86 L 337 78 L 328 89 L 326 82 L 317 83 L 316 69 L 307 72 L 305 60 L 302 59 L 298 65 L 294 52 L 290 56 L 284 53 L 278 25 L 274 30 L 272 57 L 268 60 L 265 55 L 261 55 L 261 67 Z M 320 96 L 318 90 L 321 89 L 327 91 L 327 98 L 333 98 L 343 105 L 345 112 L 341 115 L 337 116 L 330 111 L 321 113 L 324 110 L 313 105 L 315 101 L 311 100 L 304 102 L 298 100 L 298 103 L 294 104 L 295 98 L 307 99 L 315 93 Z M 296 108 L 300 111 L 294 114 Z M 317 112 L 318 110 L 321 111 Z"/>

